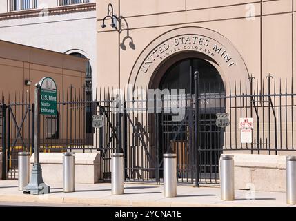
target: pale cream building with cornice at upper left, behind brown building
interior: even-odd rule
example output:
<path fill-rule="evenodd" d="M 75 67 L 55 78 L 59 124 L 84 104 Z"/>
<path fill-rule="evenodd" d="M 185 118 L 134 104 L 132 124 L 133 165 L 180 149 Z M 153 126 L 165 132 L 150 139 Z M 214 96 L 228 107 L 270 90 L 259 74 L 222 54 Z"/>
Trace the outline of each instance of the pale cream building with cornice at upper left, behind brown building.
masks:
<path fill-rule="evenodd" d="M 95 0 L 1 1 L 0 39 L 88 58 L 86 84 L 91 87 L 96 72 L 95 8 Z"/>

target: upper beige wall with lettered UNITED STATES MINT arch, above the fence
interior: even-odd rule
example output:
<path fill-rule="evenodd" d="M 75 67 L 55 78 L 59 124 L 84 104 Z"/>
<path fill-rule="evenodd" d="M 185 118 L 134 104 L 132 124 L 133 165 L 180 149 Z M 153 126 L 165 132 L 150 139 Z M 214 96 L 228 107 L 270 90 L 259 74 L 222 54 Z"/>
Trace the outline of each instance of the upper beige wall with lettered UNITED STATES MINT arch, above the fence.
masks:
<path fill-rule="evenodd" d="M 124 18 L 121 32 L 111 28 L 110 21 L 101 28 L 108 3 Z M 295 0 L 98 0 L 97 4 L 100 87 L 122 88 L 128 83 L 150 87 L 159 65 L 177 54 L 186 57 L 185 52 L 210 61 L 224 82 L 250 75 L 265 81 L 268 73 L 287 78 L 290 85 L 294 82 Z"/>

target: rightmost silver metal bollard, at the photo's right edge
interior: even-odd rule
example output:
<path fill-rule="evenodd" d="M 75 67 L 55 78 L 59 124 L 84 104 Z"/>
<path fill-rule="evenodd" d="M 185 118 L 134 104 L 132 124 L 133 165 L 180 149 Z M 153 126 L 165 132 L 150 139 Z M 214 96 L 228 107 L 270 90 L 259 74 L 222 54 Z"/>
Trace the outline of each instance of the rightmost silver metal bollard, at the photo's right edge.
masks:
<path fill-rule="evenodd" d="M 296 204 L 296 156 L 286 157 L 287 204 Z"/>

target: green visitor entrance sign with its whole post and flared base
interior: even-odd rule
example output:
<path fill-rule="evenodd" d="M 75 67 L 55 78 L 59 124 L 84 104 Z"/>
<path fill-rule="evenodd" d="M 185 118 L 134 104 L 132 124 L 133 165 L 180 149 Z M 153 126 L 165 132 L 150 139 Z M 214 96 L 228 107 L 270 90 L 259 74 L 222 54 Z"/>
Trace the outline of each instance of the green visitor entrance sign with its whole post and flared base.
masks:
<path fill-rule="evenodd" d="M 40 115 L 57 115 L 57 86 L 50 77 L 43 77 L 35 86 L 34 164 L 30 183 L 23 188 L 23 193 L 39 195 L 50 193 L 50 186 L 43 182 L 42 169 L 39 162 Z"/>

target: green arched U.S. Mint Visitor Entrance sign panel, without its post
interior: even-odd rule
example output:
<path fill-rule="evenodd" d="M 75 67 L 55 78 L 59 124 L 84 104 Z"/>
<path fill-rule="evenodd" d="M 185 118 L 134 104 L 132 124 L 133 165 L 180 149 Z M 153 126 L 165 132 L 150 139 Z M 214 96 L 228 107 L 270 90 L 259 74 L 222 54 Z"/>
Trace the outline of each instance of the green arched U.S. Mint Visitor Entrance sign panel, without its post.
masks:
<path fill-rule="evenodd" d="M 57 115 L 57 86 L 51 77 L 41 79 L 40 113 L 41 115 Z"/>

